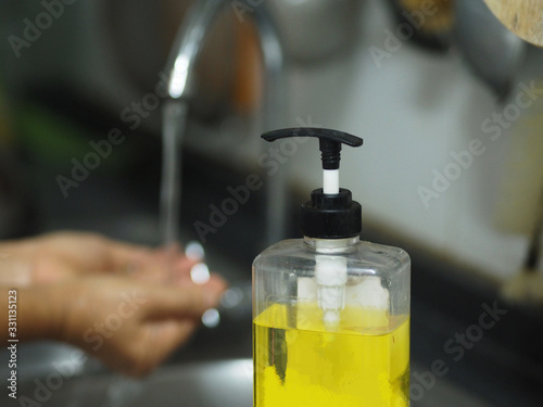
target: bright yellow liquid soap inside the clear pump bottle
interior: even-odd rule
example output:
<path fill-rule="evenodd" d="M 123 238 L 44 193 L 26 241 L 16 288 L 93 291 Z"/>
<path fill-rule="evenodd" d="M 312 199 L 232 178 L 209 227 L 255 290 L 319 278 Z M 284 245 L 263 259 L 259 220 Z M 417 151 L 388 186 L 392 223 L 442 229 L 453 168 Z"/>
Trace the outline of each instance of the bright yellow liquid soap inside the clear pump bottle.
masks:
<path fill-rule="evenodd" d="M 407 316 L 348 306 L 327 330 L 317 304 L 294 307 L 253 321 L 254 407 L 409 405 Z"/>

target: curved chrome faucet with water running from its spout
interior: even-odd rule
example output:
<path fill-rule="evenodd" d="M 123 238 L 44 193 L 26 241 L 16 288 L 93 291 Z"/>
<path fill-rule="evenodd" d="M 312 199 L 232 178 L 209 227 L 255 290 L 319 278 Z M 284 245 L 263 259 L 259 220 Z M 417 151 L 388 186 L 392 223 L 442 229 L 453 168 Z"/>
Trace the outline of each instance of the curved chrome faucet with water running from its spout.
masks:
<path fill-rule="evenodd" d="M 265 69 L 263 127 L 272 130 L 285 125 L 286 97 L 283 84 L 283 52 L 278 30 L 264 1 L 197 0 L 189 10 L 177 34 L 166 75 L 169 75 L 168 93 L 173 101 L 186 103 L 194 91 L 195 62 L 204 44 L 206 34 L 227 5 L 237 3 L 243 16 L 254 21 Z M 172 109 L 166 106 L 165 109 Z M 285 126 L 282 126 L 285 127 Z M 263 143 L 264 144 L 264 143 Z M 264 149 L 264 147 L 263 147 Z M 283 239 L 286 219 L 286 171 L 279 170 L 266 181 L 266 242 Z"/>

